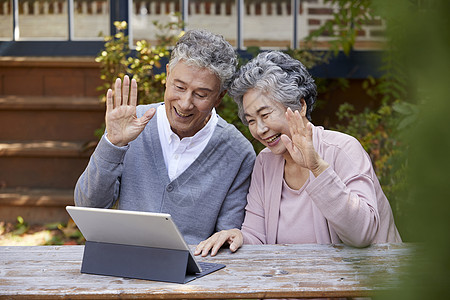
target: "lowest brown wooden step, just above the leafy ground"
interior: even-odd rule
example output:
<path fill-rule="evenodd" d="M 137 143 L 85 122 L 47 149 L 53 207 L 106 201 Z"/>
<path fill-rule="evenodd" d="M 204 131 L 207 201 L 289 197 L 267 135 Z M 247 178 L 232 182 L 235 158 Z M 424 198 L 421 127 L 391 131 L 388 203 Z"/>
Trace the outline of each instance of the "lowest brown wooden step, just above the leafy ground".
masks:
<path fill-rule="evenodd" d="M 67 222 L 67 205 L 74 205 L 73 189 L 0 189 L 0 220 L 29 224 Z"/>

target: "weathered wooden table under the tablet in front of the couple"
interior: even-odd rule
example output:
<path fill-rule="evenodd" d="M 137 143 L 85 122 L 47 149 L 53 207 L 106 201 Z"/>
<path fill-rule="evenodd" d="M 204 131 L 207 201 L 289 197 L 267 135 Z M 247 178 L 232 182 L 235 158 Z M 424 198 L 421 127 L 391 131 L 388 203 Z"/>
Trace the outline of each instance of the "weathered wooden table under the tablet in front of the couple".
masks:
<path fill-rule="evenodd" d="M 244 245 L 200 260 L 226 268 L 187 284 L 81 274 L 84 246 L 0 247 L 0 298 L 364 297 L 399 284 L 412 245 Z"/>

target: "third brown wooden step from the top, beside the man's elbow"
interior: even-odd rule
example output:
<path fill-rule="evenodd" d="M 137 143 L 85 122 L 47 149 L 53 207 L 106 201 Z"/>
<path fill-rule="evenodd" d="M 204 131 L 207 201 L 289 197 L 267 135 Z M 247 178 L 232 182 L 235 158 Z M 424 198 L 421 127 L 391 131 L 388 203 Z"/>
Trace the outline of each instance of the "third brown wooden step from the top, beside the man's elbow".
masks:
<path fill-rule="evenodd" d="M 95 146 L 95 141 L 0 141 L 0 188 L 73 188 Z"/>

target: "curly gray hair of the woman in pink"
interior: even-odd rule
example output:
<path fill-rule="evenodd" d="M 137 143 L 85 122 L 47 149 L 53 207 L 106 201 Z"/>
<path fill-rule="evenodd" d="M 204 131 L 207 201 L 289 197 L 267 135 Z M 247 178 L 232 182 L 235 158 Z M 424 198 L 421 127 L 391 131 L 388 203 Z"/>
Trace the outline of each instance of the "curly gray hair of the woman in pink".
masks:
<path fill-rule="evenodd" d="M 306 102 L 306 117 L 311 121 L 311 112 L 317 97 L 314 79 L 305 66 L 280 51 L 262 52 L 236 74 L 228 91 L 238 105 L 239 117 L 244 117 L 243 97 L 250 89 L 257 89 L 293 111 L 301 110 L 301 99 Z"/>

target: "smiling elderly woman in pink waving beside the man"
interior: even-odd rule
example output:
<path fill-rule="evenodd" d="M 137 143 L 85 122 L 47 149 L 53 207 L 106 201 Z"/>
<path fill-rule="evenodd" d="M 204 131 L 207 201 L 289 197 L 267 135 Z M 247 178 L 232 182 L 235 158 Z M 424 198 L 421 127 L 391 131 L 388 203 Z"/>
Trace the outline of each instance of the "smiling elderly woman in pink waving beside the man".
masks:
<path fill-rule="evenodd" d="M 224 243 L 401 242 L 369 155 L 353 137 L 310 123 L 317 96 L 299 61 L 259 54 L 237 73 L 230 95 L 242 122 L 266 148 L 256 158 L 242 229 L 217 232 L 195 254 Z"/>

